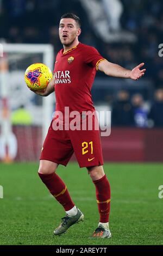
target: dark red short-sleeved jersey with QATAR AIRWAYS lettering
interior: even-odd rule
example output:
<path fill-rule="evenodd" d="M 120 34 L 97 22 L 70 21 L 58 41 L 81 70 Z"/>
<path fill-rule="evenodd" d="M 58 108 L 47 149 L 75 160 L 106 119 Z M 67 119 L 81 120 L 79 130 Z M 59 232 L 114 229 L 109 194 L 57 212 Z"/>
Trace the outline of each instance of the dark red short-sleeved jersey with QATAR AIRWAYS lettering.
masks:
<path fill-rule="evenodd" d="M 66 52 L 58 52 L 54 65 L 56 111 L 64 113 L 65 107 L 80 113 L 95 111 L 91 88 L 102 60 L 94 47 L 80 42 Z"/>

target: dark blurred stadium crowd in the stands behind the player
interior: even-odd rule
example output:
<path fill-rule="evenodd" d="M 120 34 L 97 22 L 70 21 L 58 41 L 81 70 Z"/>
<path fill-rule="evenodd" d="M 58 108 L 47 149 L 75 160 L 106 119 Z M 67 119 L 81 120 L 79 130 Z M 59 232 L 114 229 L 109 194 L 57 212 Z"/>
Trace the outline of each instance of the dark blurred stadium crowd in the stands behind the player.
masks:
<path fill-rule="evenodd" d="M 108 0 L 108 3 L 110 1 Z M 94 6 L 100 4 L 103 11 L 106 10 L 107 0 L 88 2 L 92 7 L 93 4 Z M 124 84 L 118 87 L 115 93 L 110 82 L 109 90 L 106 88 L 103 90 L 101 87 L 103 96 L 98 94 L 99 87 L 98 90 L 95 87 L 93 91 L 95 104 L 102 100 L 108 103 L 112 109 L 112 124 L 115 126 L 163 126 L 163 57 L 159 57 L 158 54 L 158 46 L 163 43 L 161 41 L 163 2 L 161 0 L 113 2 L 117 4 L 121 2 L 122 5 L 121 27 L 116 28 L 116 32 L 110 28 L 108 34 L 114 37 L 114 34 L 118 33 L 121 35 L 119 40 L 109 41 L 109 38 L 103 40 L 104 38 L 96 33 L 94 25 L 96 23 L 98 26 L 101 21 L 98 19 L 98 14 L 94 15 L 94 20 L 90 19 L 91 13 L 89 8 L 86 8 L 84 0 L 0 0 L 0 40 L 4 39 L 10 43 L 50 43 L 54 45 L 57 53 L 62 47 L 58 38 L 60 16 L 66 12 L 77 14 L 82 18 L 82 35 L 79 39 L 81 42 L 95 46 L 110 62 L 128 69 L 145 62 L 147 69 L 146 76 L 140 80 L 142 85 L 145 81 L 150 84 L 147 90 L 139 90 L 140 87 L 136 90 L 134 87 L 133 91 Z M 96 8 L 93 11 L 95 14 Z M 134 35 L 133 40 L 129 40 L 130 35 Z M 101 72 L 97 73 L 97 78 L 101 79 L 102 83 L 106 77 Z M 107 79 L 109 81 L 110 78 Z M 117 83 L 121 83 L 120 80 Z"/>

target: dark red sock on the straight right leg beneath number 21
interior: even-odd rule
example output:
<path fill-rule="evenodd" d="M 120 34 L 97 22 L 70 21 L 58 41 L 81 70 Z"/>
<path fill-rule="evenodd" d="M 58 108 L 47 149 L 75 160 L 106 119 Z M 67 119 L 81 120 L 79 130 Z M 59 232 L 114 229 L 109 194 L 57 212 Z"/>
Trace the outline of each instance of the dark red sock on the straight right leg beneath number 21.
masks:
<path fill-rule="evenodd" d="M 110 184 L 106 175 L 99 180 L 94 180 L 96 186 L 96 198 L 100 215 L 99 222 L 109 222 L 110 212 Z"/>

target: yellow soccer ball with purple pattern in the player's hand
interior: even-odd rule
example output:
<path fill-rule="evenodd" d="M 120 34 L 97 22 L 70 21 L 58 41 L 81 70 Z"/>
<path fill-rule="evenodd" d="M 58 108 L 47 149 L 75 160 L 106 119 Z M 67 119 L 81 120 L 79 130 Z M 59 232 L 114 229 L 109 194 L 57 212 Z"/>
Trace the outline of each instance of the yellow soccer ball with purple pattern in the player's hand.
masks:
<path fill-rule="evenodd" d="M 46 89 L 52 77 L 52 71 L 42 63 L 34 63 L 28 66 L 24 75 L 28 88 L 35 91 Z"/>

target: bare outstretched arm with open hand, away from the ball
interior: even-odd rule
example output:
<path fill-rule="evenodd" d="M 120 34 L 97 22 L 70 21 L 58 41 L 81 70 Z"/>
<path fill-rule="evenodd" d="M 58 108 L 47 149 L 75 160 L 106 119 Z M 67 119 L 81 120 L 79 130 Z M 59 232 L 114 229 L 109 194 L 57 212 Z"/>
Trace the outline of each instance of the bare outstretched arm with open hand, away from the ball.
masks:
<path fill-rule="evenodd" d="M 145 74 L 146 69 L 140 70 L 143 65 L 145 65 L 145 63 L 141 63 L 134 69 L 129 70 L 122 68 L 120 65 L 108 62 L 108 60 L 103 60 L 103 62 L 99 63 L 98 70 L 104 72 L 108 76 L 137 80 Z"/>

